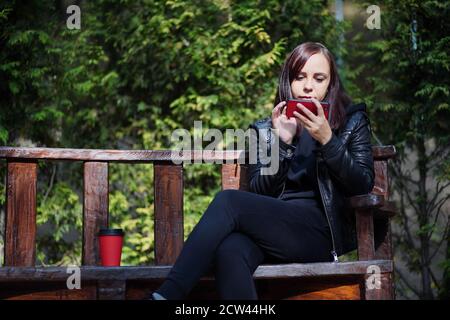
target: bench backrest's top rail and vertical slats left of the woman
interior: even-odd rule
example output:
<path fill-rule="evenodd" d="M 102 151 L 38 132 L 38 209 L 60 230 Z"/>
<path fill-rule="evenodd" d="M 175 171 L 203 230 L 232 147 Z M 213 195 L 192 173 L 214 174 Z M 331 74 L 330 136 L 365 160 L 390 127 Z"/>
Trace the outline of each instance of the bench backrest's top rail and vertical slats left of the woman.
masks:
<path fill-rule="evenodd" d="M 83 161 L 82 264 L 99 265 L 96 234 L 108 226 L 108 164 L 154 164 L 155 262 L 172 264 L 183 246 L 183 166 L 173 160 L 234 161 L 243 151 L 173 152 L 49 148 L 0 148 L 7 159 L 5 266 L 34 266 L 38 160 Z M 235 163 L 222 165 L 223 189 L 244 189 Z M 242 175 L 244 177 L 244 175 Z M 21 235 L 18 237 L 18 235 Z"/>

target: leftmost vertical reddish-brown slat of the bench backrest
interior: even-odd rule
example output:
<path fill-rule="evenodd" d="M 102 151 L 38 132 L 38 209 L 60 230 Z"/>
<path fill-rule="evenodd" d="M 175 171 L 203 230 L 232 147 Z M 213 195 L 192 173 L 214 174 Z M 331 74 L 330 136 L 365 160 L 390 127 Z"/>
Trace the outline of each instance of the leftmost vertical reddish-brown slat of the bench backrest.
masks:
<path fill-rule="evenodd" d="M 37 163 L 8 161 L 5 265 L 34 266 Z"/>

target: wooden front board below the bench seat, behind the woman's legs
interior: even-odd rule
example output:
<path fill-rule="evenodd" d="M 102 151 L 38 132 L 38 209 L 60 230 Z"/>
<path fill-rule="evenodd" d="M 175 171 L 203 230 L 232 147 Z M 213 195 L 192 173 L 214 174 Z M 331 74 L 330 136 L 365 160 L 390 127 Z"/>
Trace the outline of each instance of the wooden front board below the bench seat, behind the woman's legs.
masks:
<path fill-rule="evenodd" d="M 359 300 L 361 292 L 359 277 L 322 277 L 317 278 L 287 278 L 277 280 L 257 280 L 258 297 L 260 300 Z M 83 282 L 80 289 L 69 290 L 64 281 L 60 282 L 22 282 L 22 283 L 0 283 L 0 299 L 12 300 L 95 300 L 95 299 L 148 299 L 150 293 L 156 290 L 160 281 L 130 281 L 126 288 L 117 287 L 110 282 L 111 287 L 90 281 Z M 97 283 L 97 285 L 95 285 Z M 99 296 L 100 288 L 104 291 L 103 297 Z M 113 288 L 113 290 L 107 290 Z M 119 289 L 119 290 L 117 290 Z M 123 291 L 126 291 L 123 294 Z M 364 293 L 363 290 L 361 290 Z M 193 288 L 186 300 L 218 300 L 214 281 L 200 281 Z"/>

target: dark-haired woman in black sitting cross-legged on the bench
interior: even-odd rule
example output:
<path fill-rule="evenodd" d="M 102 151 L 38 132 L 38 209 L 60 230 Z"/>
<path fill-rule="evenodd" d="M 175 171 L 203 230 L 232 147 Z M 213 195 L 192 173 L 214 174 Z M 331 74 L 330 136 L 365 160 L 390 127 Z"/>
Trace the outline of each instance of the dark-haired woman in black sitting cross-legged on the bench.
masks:
<path fill-rule="evenodd" d="M 299 105 L 306 116 L 288 119 L 292 98 L 313 101 L 317 115 Z M 328 120 L 320 101 L 330 104 Z M 258 158 L 250 192 L 216 195 L 152 299 L 184 299 L 211 267 L 222 299 L 257 299 L 253 272 L 263 262 L 338 262 L 356 248 L 345 198 L 374 185 L 365 104 L 351 104 L 330 51 L 307 42 L 286 59 L 274 105 L 251 128 L 273 135 L 264 137 L 268 149 L 279 139 L 278 171 L 261 174 Z"/>

